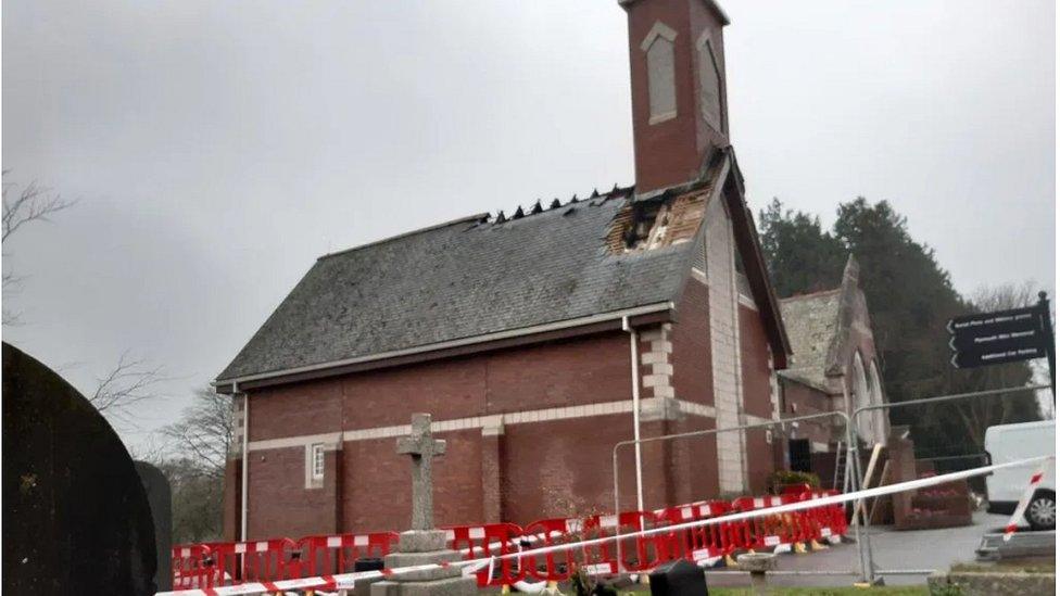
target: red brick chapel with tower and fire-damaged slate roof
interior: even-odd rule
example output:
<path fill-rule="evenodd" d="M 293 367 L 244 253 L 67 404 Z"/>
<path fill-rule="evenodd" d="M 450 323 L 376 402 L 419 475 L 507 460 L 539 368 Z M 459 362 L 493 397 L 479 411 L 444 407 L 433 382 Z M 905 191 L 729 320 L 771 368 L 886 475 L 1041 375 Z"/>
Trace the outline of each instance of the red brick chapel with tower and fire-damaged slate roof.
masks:
<path fill-rule="evenodd" d="M 782 415 L 791 347 L 729 137 L 729 20 L 711 0 L 619 5 L 635 185 L 318 258 L 215 381 L 237 422 L 226 537 L 404 530 L 394 444 L 416 411 L 447 442 L 440 524 L 610 510 L 616 443 Z M 642 506 L 760 493 L 779 443 L 645 445 Z"/>

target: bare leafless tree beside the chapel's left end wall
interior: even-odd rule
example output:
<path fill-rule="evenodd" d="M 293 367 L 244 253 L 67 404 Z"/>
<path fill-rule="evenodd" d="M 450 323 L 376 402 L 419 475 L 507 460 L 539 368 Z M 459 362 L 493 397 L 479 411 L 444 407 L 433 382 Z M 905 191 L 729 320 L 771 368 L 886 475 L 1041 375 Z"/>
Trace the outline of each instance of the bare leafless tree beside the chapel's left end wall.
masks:
<path fill-rule="evenodd" d="M 210 477 L 222 478 L 231 448 L 234 423 L 231 398 L 202 388 L 180 419 L 161 432 L 179 457 L 190 460 Z"/>

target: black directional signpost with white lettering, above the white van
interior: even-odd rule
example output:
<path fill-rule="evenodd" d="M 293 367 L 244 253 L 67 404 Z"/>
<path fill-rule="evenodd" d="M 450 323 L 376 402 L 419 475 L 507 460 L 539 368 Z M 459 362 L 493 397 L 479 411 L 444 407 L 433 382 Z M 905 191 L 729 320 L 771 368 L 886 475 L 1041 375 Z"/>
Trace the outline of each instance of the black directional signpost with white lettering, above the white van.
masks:
<path fill-rule="evenodd" d="M 1056 346 L 1045 292 L 1038 293 L 1034 306 L 954 317 L 946 329 L 954 351 L 950 362 L 957 368 L 1049 358 L 1049 381 L 1056 398 Z"/>

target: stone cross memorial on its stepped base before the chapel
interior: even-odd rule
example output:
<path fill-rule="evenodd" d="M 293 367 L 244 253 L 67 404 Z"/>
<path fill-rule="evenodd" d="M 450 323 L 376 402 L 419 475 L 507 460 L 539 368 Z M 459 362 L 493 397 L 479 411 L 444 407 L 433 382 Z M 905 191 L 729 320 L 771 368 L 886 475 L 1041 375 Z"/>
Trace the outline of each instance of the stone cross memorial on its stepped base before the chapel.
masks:
<path fill-rule="evenodd" d="M 414 414 L 412 428 L 409 436 L 398 440 L 398 453 L 413 461 L 412 530 L 402 532 L 398 549 L 383 558 L 391 570 L 460 560 L 459 553 L 445 548 L 445 532 L 434 529 L 431 459 L 445 453 L 445 442 L 431 436 L 430 415 Z M 475 578 L 465 578 L 457 566 L 400 572 L 371 584 L 371 596 L 465 596 L 477 592 Z"/>

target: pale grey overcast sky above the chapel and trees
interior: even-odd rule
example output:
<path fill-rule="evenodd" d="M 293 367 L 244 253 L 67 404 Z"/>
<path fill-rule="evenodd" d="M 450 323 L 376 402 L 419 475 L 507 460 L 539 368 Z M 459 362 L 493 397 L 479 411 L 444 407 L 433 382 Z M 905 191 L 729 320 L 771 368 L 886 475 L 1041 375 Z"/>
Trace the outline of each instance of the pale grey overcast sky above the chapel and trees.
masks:
<path fill-rule="evenodd" d="M 723 3 L 757 212 L 886 199 L 959 291 L 1055 287 L 1049 0 Z M 4 246 L 4 339 L 83 391 L 125 351 L 172 421 L 318 255 L 633 182 L 614 0 L 8 0 L 4 182 L 75 208 Z"/>

